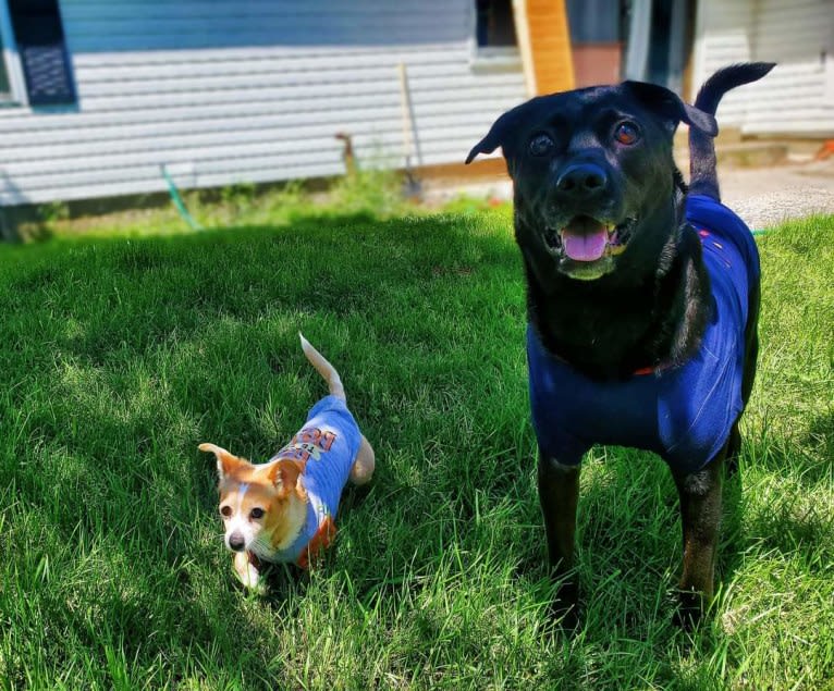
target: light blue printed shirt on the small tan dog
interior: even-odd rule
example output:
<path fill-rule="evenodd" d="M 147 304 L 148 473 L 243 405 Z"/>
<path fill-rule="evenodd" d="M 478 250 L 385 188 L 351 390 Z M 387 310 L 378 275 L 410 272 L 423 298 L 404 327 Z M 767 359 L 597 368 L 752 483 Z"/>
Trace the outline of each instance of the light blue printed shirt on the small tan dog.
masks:
<path fill-rule="evenodd" d="M 344 399 L 324 396 L 310 409 L 304 428 L 270 459 L 305 462 L 304 488 L 309 499 L 302 532 L 292 545 L 275 554 L 273 560 L 307 568 L 309 559 L 332 541 L 339 499 L 360 443 L 359 425 Z"/>

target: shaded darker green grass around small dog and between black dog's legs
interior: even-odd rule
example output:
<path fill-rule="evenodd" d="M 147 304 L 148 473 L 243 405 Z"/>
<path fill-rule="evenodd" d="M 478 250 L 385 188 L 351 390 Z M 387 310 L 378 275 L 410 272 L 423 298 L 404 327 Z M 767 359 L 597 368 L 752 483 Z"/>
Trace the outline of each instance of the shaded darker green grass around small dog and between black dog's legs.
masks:
<path fill-rule="evenodd" d="M 520 262 L 508 229 L 505 235 L 480 235 L 477 219 L 445 217 L 383 223 L 366 214 L 303 217 L 291 227 L 82 239 L 35 247 L 32 255 L 37 266 L 11 275 L 2 298 L 5 313 L 35 314 L 5 326 L 7 342 L 29 346 L 9 354 L 3 377 L 7 390 L 20 383 L 8 378 L 26 373 L 48 392 L 23 422 L 20 439 L 50 454 L 69 452 L 81 468 L 75 482 L 53 490 L 35 456 L 26 468 L 8 466 L 3 474 L 20 470 L 16 501 L 53 521 L 58 543 L 73 544 L 82 531 L 131 565 L 113 592 L 107 591 L 110 616 L 64 607 L 100 595 L 94 583 L 66 587 L 44 607 L 85 645 L 98 646 L 99 664 L 102 641 L 109 640 L 122 641 L 126 658 L 148 668 L 173 655 L 164 664 L 180 669 L 194 650 L 213 651 L 210 657 L 230 674 L 252 664 L 268 676 L 274 666 L 279 653 L 270 637 L 278 625 L 263 621 L 296 620 L 309 581 L 279 567 L 266 600 L 254 601 L 235 587 L 216 518 L 214 466 L 197 455 L 196 445 L 207 441 L 206 432 L 221 431 L 236 448 L 266 454 L 297 429 L 315 402 L 310 392 L 321 391 L 296 342 L 284 337 L 302 325 L 329 331 L 352 407 L 375 445 L 381 441 L 373 488 L 348 490 L 340 510 L 360 554 L 347 560 L 332 555 L 326 568 L 358 566 L 349 576 L 331 577 L 340 585 L 351 581 L 364 604 L 382 602 L 383 612 L 393 613 L 392 626 L 412 606 L 406 601 L 432 587 L 426 575 L 440 564 L 441 550 L 459 548 L 466 576 L 494 538 L 503 550 L 499 558 L 518 565 L 519 588 L 544 580 L 529 424 L 518 432 L 529 412 L 514 360 L 523 360 L 524 310 Z M 377 361 L 381 354 L 387 359 Z M 78 390 L 98 396 L 89 407 L 60 381 L 64 370 L 87 378 Z M 147 412 L 134 415 L 127 407 L 122 418 L 107 416 L 108 405 L 132 394 L 134 370 L 167 387 L 150 385 L 159 398 Z M 25 405 L 23 398 L 17 403 Z M 181 418 L 165 417 L 169 406 Z M 269 417 L 275 409 L 285 421 L 265 422 L 256 412 Z M 821 418 L 809 434 L 829 440 L 830 448 L 831 425 L 830 416 Z M 529 458 L 518 451 L 525 444 Z M 780 458 L 768 462 L 777 467 Z M 89 504 L 78 506 L 83 497 L 76 492 L 88 492 L 87 483 L 101 497 L 90 493 Z M 507 513 L 496 514 L 491 528 L 483 514 L 495 507 Z M 581 632 L 584 649 L 609 649 L 612 632 L 617 640 L 679 641 L 669 624 L 670 599 L 658 604 L 664 579 L 676 582 L 680 553 L 676 493 L 666 469 L 629 454 L 611 458 L 584 482 L 580 510 L 584 597 L 597 607 L 597 618 Z M 749 542 L 737 495 L 725 514 L 729 529 L 720 571 L 729 580 Z M 393 520 L 400 532 L 385 532 Z M 755 532 L 771 534 L 772 546 L 785 552 L 812 544 L 813 532 L 823 528 L 821 519 L 809 522 L 789 513 L 773 520 L 773 530 L 762 523 Z M 217 529 L 208 530 L 208 523 Z M 415 544 L 421 540 L 430 544 Z M 143 580 L 160 573 L 159 582 Z M 120 585 L 127 595 L 115 592 Z M 116 602 L 119 596 L 126 601 Z M 162 620 L 154 625 L 161 630 L 156 638 L 147 637 L 149 613 Z M 402 616 L 412 614 L 419 613 Z M 437 621 L 415 620 L 415 630 L 440 640 Z M 476 643 L 477 653 L 481 642 Z M 58 655 L 61 644 L 57 639 L 51 652 Z M 719 642 L 703 633 L 699 644 L 709 651 Z M 556 667 L 581 675 L 581 653 Z"/>

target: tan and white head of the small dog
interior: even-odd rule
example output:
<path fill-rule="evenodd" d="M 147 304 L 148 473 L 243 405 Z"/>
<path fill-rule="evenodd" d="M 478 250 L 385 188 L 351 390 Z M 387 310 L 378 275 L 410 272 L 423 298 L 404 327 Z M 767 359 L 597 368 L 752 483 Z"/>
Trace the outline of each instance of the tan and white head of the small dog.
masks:
<path fill-rule="evenodd" d="M 217 458 L 226 547 L 269 559 L 290 546 L 306 517 L 304 465 L 281 459 L 256 466 L 214 444 L 200 444 L 199 449 Z"/>

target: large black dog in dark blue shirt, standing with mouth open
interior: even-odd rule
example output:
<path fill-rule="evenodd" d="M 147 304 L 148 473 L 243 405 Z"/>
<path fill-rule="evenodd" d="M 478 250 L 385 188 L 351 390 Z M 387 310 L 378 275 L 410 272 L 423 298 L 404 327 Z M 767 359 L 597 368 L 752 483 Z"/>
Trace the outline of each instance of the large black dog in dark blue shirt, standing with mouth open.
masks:
<path fill-rule="evenodd" d="M 695 108 L 638 82 L 533 98 L 499 118 L 466 160 L 502 147 L 514 183 L 539 497 L 568 609 L 579 464 L 594 443 L 666 460 L 680 499 L 687 619 L 713 595 L 722 466 L 740 447 L 759 311 L 756 245 L 719 202 L 713 115 L 726 91 L 772 67 L 721 70 Z M 688 196 L 672 157 L 679 122 L 689 125 Z"/>

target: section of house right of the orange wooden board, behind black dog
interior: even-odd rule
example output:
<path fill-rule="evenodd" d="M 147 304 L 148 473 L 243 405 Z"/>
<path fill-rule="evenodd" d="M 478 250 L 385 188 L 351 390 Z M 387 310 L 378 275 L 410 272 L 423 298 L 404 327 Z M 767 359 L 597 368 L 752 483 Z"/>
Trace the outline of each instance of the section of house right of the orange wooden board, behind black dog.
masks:
<path fill-rule="evenodd" d="M 577 86 L 618 77 L 695 99 L 719 67 L 778 63 L 719 108 L 743 135 L 834 137 L 833 0 L 566 0 Z"/>

